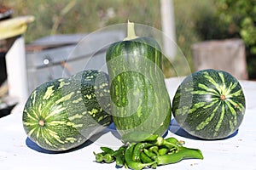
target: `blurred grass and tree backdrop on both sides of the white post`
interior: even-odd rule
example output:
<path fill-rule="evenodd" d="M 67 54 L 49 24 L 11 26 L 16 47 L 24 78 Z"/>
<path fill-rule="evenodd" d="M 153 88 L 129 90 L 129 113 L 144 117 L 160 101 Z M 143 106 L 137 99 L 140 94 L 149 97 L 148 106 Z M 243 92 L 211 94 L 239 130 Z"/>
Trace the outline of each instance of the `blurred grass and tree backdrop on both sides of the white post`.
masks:
<path fill-rule="evenodd" d="M 249 78 L 256 79 L 256 0 L 172 2 L 177 46 L 191 71 L 193 43 L 239 37 L 247 46 Z M 54 34 L 88 33 L 128 19 L 161 30 L 160 0 L 13 0 L 4 4 L 15 9 L 14 15 L 35 16 L 26 31 L 27 43 Z"/>

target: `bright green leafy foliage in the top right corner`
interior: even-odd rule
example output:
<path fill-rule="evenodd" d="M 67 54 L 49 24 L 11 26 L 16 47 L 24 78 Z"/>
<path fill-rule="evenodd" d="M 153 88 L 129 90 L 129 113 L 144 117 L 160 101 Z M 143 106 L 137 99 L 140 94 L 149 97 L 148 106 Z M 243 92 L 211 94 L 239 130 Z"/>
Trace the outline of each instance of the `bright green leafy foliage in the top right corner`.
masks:
<path fill-rule="evenodd" d="M 217 0 L 221 20 L 238 31 L 243 41 L 256 54 L 256 0 Z"/>

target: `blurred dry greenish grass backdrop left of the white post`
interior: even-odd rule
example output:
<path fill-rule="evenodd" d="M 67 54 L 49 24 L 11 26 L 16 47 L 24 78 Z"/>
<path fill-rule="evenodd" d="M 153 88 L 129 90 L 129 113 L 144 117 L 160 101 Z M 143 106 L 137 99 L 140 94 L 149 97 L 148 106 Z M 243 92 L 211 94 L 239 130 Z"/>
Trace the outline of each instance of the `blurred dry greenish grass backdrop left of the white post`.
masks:
<path fill-rule="evenodd" d="M 14 0 L 7 5 L 15 8 L 15 15 L 35 16 L 26 42 L 54 34 L 88 33 L 127 19 L 160 29 L 160 2 L 155 0 Z"/>

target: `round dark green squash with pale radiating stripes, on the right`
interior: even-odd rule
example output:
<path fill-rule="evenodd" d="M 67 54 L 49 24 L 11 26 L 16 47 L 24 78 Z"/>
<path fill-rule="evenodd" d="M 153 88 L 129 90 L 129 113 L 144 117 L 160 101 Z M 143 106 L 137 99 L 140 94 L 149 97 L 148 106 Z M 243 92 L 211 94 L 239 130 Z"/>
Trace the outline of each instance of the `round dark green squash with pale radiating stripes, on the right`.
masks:
<path fill-rule="evenodd" d="M 172 103 L 177 123 L 201 139 L 224 139 L 235 133 L 245 108 L 245 96 L 236 78 L 212 69 L 186 77 Z"/>

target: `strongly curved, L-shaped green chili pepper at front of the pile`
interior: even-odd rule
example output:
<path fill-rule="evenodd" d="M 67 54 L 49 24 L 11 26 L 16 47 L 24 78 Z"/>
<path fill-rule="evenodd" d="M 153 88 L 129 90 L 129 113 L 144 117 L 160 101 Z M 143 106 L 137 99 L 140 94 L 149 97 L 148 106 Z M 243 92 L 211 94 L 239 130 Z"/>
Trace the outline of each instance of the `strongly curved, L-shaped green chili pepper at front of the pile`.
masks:
<path fill-rule="evenodd" d="M 125 150 L 125 163 L 128 167 L 135 170 L 143 169 L 143 167 L 148 167 L 152 164 L 154 164 L 156 161 L 152 161 L 150 163 L 142 163 L 140 161 L 133 161 L 132 160 L 132 153 L 134 150 L 135 144 L 130 144 L 128 148 Z"/>

